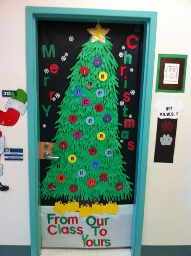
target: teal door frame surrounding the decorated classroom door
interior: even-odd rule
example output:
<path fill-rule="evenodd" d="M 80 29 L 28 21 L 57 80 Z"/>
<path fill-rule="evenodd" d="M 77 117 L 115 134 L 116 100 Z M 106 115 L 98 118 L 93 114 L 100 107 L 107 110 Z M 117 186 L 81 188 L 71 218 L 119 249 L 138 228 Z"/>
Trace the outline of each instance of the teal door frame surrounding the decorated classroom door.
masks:
<path fill-rule="evenodd" d="M 38 95 L 38 20 L 86 21 L 144 24 L 141 91 L 139 104 L 136 177 L 133 207 L 131 253 L 141 255 L 147 152 L 151 113 L 157 13 L 78 8 L 26 7 L 26 66 L 28 94 L 29 197 L 31 256 L 41 250 L 39 185 L 39 95 Z"/>

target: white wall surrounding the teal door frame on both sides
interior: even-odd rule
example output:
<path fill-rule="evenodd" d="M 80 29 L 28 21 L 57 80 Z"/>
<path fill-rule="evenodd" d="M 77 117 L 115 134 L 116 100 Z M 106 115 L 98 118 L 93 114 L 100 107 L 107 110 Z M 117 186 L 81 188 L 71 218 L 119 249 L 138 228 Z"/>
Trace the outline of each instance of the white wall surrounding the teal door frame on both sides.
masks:
<path fill-rule="evenodd" d="M 26 90 L 25 6 L 102 8 L 114 10 L 157 11 L 157 38 L 152 94 L 151 127 L 144 211 L 143 245 L 191 244 L 191 2 L 189 0 L 1 0 L 0 1 L 0 88 Z M 174 162 L 154 163 L 157 115 L 154 103 L 158 54 L 188 54 L 185 93 L 177 93 L 184 103 L 178 118 Z M 8 98 L 0 96 L 0 109 Z M 24 148 L 24 161 L 5 163 L 0 191 L 0 244 L 30 245 L 27 115 L 13 127 L 0 129 L 6 147 Z M 1 163 L 4 163 L 3 156 Z"/>

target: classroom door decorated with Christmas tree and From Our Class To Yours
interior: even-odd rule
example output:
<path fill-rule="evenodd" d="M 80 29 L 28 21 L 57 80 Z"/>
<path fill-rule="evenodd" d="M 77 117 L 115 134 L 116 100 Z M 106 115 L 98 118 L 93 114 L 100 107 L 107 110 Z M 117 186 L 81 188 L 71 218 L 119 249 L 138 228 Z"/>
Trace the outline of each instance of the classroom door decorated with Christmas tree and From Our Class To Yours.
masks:
<path fill-rule="evenodd" d="M 39 21 L 42 247 L 129 247 L 143 26 Z"/>

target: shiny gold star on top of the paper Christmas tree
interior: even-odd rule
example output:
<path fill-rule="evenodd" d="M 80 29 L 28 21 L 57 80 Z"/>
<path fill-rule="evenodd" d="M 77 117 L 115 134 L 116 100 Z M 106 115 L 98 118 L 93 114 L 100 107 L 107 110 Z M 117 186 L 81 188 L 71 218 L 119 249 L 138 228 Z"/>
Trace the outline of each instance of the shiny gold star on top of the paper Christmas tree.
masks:
<path fill-rule="evenodd" d="M 97 23 L 95 28 L 89 28 L 87 31 L 92 35 L 92 41 L 100 41 L 105 44 L 105 35 L 110 31 L 109 28 L 102 28 L 99 23 Z"/>

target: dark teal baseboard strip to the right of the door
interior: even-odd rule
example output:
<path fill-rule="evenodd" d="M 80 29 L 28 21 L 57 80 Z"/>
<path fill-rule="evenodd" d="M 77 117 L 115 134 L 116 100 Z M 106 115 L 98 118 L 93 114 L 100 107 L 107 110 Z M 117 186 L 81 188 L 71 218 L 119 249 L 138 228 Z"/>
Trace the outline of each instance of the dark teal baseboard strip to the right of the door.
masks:
<path fill-rule="evenodd" d="M 141 256 L 191 256 L 191 245 L 142 245 Z"/>

